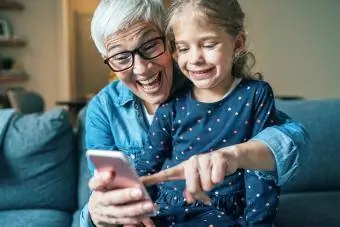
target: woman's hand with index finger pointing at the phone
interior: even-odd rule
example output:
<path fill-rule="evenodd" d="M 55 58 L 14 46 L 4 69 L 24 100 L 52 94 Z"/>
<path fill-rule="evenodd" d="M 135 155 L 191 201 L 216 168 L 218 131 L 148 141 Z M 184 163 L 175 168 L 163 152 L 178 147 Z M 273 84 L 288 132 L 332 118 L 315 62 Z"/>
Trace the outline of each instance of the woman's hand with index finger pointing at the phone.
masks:
<path fill-rule="evenodd" d="M 201 155 L 194 155 L 189 160 L 151 176 L 141 177 L 146 185 L 163 181 L 185 180 L 184 196 L 188 203 L 200 200 L 210 204 L 210 198 L 204 193 L 221 183 L 226 175 L 233 174 L 240 166 L 237 146 L 221 148 Z"/>

